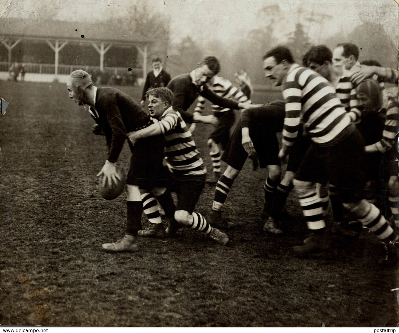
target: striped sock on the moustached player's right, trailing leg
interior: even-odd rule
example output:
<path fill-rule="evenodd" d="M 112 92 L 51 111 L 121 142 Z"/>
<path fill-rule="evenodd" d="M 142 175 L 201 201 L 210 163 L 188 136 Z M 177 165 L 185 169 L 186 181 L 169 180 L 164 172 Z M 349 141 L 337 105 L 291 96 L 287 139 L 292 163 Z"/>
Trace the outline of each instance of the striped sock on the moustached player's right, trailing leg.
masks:
<path fill-rule="evenodd" d="M 372 203 L 363 199 L 358 203 L 347 204 L 344 203 L 345 207 L 355 214 L 358 220 L 363 226 L 370 229 L 383 243 L 388 244 L 397 240 L 395 231 L 391 228 L 385 217 L 381 215 L 381 212 Z M 366 212 L 366 213 L 365 213 Z"/>

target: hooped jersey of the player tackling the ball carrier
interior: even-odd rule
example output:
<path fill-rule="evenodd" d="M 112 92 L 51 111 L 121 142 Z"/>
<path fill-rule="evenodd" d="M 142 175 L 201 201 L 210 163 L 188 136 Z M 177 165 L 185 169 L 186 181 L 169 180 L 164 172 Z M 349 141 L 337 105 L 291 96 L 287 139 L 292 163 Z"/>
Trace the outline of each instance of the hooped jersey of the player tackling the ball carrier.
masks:
<path fill-rule="evenodd" d="M 203 175 L 205 165 L 182 116 L 172 106 L 158 119 L 165 136 L 165 158 L 177 175 Z"/>

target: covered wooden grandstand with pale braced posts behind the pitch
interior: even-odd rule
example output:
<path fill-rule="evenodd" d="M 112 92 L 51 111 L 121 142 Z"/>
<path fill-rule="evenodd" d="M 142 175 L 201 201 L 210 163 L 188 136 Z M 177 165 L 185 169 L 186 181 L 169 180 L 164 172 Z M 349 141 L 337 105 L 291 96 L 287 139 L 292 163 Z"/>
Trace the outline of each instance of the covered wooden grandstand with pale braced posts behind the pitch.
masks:
<path fill-rule="evenodd" d="M 115 22 L 38 22 L 18 18 L 0 18 L 0 41 L 2 77 L 12 63 L 24 63 L 27 76 L 45 74 L 43 77 L 52 79 L 78 68 L 94 75 L 145 78 L 147 51 L 152 43 Z"/>

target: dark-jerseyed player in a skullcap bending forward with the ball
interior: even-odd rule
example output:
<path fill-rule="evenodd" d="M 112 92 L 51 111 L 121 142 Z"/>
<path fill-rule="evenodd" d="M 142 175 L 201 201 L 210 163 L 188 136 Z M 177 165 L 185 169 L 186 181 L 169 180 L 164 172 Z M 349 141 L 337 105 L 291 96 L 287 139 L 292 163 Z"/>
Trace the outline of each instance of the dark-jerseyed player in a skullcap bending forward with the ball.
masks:
<path fill-rule="evenodd" d="M 122 91 L 115 88 L 97 88 L 87 72 L 78 69 L 69 75 L 67 82 L 69 98 L 79 105 L 88 105 L 97 125 L 101 126 L 108 146 L 108 156 L 97 176 L 103 175 L 107 184 L 120 180 L 116 162 L 126 140 L 127 132 L 152 124 L 152 120 L 140 105 Z M 115 243 L 103 244 L 107 252 L 133 252 L 138 250 L 137 232 L 142 229 L 143 206 L 140 188 L 154 190 L 162 187 L 164 138 L 154 136 L 142 140 L 134 147 L 130 145 L 132 158 L 126 180 L 127 223 L 126 234 Z M 148 150 L 151 147 L 151 154 Z"/>

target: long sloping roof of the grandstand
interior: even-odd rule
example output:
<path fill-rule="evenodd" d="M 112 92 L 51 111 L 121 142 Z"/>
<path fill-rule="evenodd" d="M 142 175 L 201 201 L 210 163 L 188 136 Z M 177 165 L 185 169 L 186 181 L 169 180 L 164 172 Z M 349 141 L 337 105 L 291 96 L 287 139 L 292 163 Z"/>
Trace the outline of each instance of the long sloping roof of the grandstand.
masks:
<path fill-rule="evenodd" d="M 81 36 L 84 37 L 81 37 Z M 108 20 L 103 22 L 66 22 L 46 20 L 24 20 L 19 18 L 0 18 L 2 38 L 24 39 L 62 39 L 79 42 L 109 42 L 120 44 L 148 44 L 148 39 L 135 35 L 120 24 Z"/>

